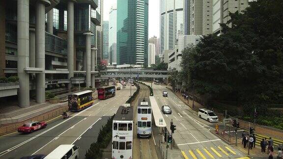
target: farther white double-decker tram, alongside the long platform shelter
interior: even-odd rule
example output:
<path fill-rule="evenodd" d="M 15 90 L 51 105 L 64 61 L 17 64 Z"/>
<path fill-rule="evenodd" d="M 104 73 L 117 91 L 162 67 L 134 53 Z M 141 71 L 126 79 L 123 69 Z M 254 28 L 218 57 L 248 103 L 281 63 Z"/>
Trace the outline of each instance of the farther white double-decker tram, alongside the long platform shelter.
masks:
<path fill-rule="evenodd" d="M 138 105 L 138 137 L 151 136 L 151 105 L 149 99 L 139 99 Z"/>

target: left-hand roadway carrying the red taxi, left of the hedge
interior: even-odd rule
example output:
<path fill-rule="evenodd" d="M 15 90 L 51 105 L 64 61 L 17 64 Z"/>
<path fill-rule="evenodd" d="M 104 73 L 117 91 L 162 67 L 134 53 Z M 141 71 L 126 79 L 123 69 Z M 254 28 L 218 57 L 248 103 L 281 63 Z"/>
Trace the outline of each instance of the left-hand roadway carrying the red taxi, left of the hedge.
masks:
<path fill-rule="evenodd" d="M 132 86 L 132 94 L 136 87 Z M 95 142 L 100 128 L 109 116 L 130 96 L 130 86 L 116 91 L 116 96 L 107 100 L 96 100 L 93 106 L 80 112 L 71 112 L 68 119 L 57 117 L 48 122 L 45 129 L 30 134 L 13 132 L 0 137 L 0 159 L 19 159 L 32 154 L 49 154 L 61 144 L 76 144 L 80 147 L 80 158 Z"/>

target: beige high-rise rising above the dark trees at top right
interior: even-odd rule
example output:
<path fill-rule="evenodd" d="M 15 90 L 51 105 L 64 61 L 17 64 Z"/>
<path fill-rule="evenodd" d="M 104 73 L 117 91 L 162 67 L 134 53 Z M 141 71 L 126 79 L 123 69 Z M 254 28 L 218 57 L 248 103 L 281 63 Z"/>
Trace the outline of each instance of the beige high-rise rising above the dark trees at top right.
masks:
<path fill-rule="evenodd" d="M 213 2 L 213 25 L 212 32 L 220 34 L 221 27 L 219 24 L 226 23 L 230 20 L 229 12 L 241 13 L 249 6 L 249 1 L 253 0 L 212 0 Z"/>

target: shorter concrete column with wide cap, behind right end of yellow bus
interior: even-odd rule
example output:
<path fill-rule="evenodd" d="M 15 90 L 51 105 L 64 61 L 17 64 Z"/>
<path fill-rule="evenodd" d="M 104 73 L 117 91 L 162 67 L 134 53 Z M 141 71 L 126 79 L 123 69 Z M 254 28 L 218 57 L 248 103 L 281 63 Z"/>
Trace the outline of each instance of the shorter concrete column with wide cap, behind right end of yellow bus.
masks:
<path fill-rule="evenodd" d="M 86 87 L 89 87 L 91 85 L 91 57 L 90 57 L 90 47 L 91 47 L 91 39 L 90 39 L 90 36 L 93 36 L 92 33 L 84 33 L 85 34 L 85 58 L 86 58 L 86 62 L 83 62 L 83 63 L 86 63 L 86 68 L 85 68 L 85 84 L 86 84 Z"/>

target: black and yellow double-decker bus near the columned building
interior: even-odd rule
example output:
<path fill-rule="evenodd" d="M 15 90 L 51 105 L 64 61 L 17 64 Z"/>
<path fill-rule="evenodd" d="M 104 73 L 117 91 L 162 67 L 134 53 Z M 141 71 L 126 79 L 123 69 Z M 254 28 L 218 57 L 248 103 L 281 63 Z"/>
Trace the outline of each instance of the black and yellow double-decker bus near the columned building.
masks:
<path fill-rule="evenodd" d="M 70 94 L 68 96 L 68 106 L 70 111 L 80 111 L 93 105 L 94 97 L 91 90 Z"/>

